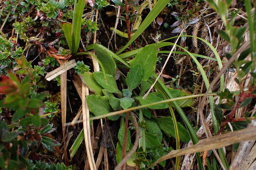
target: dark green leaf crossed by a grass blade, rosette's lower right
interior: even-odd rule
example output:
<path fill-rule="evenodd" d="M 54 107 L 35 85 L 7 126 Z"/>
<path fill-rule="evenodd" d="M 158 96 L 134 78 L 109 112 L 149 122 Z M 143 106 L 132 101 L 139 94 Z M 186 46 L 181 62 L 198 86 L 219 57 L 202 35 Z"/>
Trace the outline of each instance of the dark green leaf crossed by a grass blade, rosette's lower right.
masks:
<path fill-rule="evenodd" d="M 155 118 L 159 127 L 164 131 L 167 135 L 175 137 L 174 125 L 173 120 L 171 117 L 161 117 Z M 182 142 L 189 142 L 190 135 L 185 127 L 183 127 L 180 122 L 178 122 L 178 129 L 180 133 L 180 140 Z"/>

